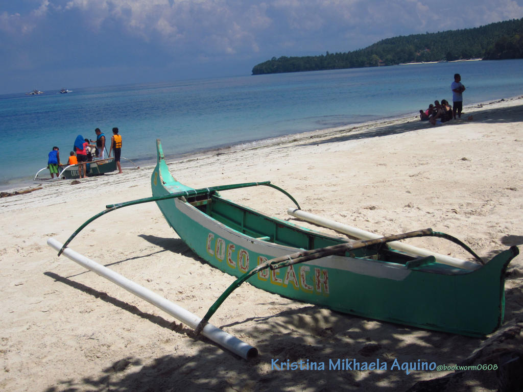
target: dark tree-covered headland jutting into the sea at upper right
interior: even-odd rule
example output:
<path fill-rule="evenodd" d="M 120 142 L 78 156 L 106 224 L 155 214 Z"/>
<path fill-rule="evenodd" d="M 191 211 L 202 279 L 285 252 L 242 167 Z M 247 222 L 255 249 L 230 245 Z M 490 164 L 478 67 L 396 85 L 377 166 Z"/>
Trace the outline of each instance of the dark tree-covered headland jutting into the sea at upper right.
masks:
<path fill-rule="evenodd" d="M 387 38 L 353 52 L 272 57 L 255 65 L 252 72 L 260 75 L 477 58 L 523 58 L 523 18 L 472 29 Z"/>

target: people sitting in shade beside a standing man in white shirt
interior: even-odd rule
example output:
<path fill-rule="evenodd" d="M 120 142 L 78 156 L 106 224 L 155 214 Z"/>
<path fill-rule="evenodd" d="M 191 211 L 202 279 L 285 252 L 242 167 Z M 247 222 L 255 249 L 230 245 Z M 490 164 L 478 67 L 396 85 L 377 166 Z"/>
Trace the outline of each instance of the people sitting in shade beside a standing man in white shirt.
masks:
<path fill-rule="evenodd" d="M 436 100 L 434 105 L 431 103 L 427 110 L 419 111 L 419 119 L 421 121 L 429 121 L 431 124 L 441 124 L 452 119 L 456 120 L 456 116 L 461 118 L 463 110 L 463 91 L 465 86 L 461 84 L 460 74 L 454 74 L 454 82 L 450 85 L 452 89 L 452 106 L 446 99 L 442 99 L 441 103 Z"/>

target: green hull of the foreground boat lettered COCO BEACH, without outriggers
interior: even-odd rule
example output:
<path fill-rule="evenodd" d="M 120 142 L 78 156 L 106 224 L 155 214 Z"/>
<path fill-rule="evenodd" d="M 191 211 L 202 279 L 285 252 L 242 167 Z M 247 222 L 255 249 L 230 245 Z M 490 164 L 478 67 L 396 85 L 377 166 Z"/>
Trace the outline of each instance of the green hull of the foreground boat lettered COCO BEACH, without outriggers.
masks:
<path fill-rule="evenodd" d="M 154 196 L 192 190 L 170 175 L 159 142 L 151 186 Z M 198 256 L 234 276 L 299 248 L 343 242 L 342 238 L 267 217 L 219 195 L 193 199 L 157 204 L 167 222 Z M 252 276 L 249 283 L 339 312 L 483 336 L 501 325 L 504 273 L 517 254 L 518 249 L 512 247 L 485 266 L 465 271 L 434 260 L 410 269 L 405 263 L 415 257 L 387 249 L 361 249 L 350 255 L 264 270 Z"/>

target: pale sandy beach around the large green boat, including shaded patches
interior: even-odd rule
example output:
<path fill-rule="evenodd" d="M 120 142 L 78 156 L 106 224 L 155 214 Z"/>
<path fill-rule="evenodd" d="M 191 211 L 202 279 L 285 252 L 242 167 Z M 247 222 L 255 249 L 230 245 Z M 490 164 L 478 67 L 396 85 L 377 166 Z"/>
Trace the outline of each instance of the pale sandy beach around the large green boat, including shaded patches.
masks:
<path fill-rule="evenodd" d="M 460 238 L 487 258 L 523 244 L 523 97 L 465 107 L 464 113 L 463 119 L 439 126 L 422 123 L 413 114 L 298 134 L 260 147 L 173 162 L 169 168 L 180 182 L 195 188 L 270 180 L 290 192 L 304 211 L 381 235 L 431 227 Z M 466 120 L 468 116 L 473 120 Z M 163 148 L 168 152 L 168 145 Z M 245 361 L 115 284 L 57 257 L 46 245 L 49 237 L 64 242 L 106 204 L 149 197 L 152 169 L 76 184 L 56 180 L 0 199 L 0 389 L 479 392 L 522 385 L 521 255 L 507 271 L 505 324 L 485 339 L 340 314 L 245 284 L 211 319 L 259 350 L 256 359 Z M 290 218 L 291 202 L 270 188 L 222 195 L 315 227 Z M 447 241 L 408 243 L 468 258 Z M 155 203 L 104 215 L 70 248 L 200 317 L 234 280 L 199 259 Z M 430 306 L 437 298 L 419 301 Z M 271 366 L 273 360 L 329 359 L 379 360 L 389 369 L 278 371 Z M 501 370 L 406 374 L 390 368 L 396 359 L 495 364 Z M 446 375 L 438 382 L 416 384 Z"/>

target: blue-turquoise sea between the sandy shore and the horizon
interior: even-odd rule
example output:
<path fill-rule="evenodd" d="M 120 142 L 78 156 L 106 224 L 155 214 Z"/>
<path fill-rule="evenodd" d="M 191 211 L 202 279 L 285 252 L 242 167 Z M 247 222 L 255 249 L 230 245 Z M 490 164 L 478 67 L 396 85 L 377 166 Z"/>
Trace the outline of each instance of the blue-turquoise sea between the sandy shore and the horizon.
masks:
<path fill-rule="evenodd" d="M 76 135 L 108 140 L 117 126 L 122 156 L 144 165 L 162 139 L 167 158 L 269 137 L 412 114 L 452 101 L 460 73 L 464 106 L 523 94 L 523 60 L 399 65 L 173 83 L 75 88 L 0 96 L 0 190 L 30 185 L 54 145 L 62 161 Z M 31 86 L 32 87 L 32 86 Z M 38 86 L 36 86 L 38 88 Z M 132 167 L 122 160 L 123 167 Z"/>

